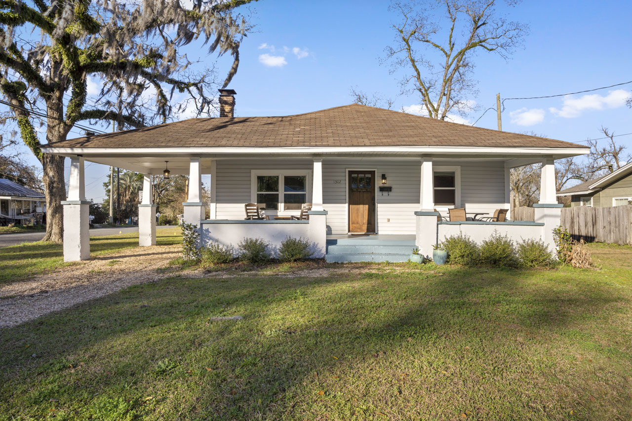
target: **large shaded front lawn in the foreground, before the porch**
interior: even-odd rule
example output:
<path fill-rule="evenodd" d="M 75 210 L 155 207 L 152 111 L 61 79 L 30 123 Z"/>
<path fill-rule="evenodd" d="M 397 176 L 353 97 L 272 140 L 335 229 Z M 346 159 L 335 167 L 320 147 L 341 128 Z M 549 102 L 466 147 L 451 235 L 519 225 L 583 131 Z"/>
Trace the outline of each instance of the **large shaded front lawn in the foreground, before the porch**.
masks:
<path fill-rule="evenodd" d="M 133 286 L 0 331 L 0 420 L 629 420 L 632 250 L 592 248 Z"/>

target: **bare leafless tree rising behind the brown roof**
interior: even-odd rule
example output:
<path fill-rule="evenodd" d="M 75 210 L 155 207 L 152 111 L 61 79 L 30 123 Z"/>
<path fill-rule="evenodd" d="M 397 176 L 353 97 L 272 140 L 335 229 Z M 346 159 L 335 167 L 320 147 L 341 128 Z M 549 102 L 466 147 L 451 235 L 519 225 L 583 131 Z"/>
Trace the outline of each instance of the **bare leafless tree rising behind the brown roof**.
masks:
<path fill-rule="evenodd" d="M 513 6 L 519 0 L 506 0 Z M 519 46 L 526 25 L 507 21 L 496 10 L 496 0 L 394 1 L 389 9 L 401 16 L 393 25 L 395 42 L 386 47 L 392 71 L 404 68 L 403 90 L 418 92 L 428 116 L 445 119 L 448 113 L 471 109 L 468 94 L 474 56 L 479 51 L 507 58 Z M 429 6 L 427 6 L 429 4 Z M 446 23 L 445 27 L 441 23 Z"/>

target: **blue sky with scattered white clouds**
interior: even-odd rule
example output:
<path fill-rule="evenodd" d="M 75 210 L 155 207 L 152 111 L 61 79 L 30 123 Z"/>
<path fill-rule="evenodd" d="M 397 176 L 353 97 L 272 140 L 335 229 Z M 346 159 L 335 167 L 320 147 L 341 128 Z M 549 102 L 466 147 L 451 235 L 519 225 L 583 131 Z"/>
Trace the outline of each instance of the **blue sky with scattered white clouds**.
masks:
<path fill-rule="evenodd" d="M 241 43 L 240 67 L 229 85 L 237 92 L 236 116 L 280 116 L 349 104 L 351 87 L 393 99 L 398 111 L 418 112 L 420 98 L 401 94 L 398 81 L 404 73 L 392 75 L 388 62 L 380 64 L 394 40 L 392 25 L 399 23 L 387 6 L 386 1 L 260 0 L 242 8 L 252 13 L 256 27 Z M 539 97 L 632 80 L 632 2 L 528 0 L 513 8 L 501 3 L 499 11 L 529 25 L 530 32 L 507 60 L 477 54 L 473 78 L 478 92 L 468 101 L 479 109 L 454 121 L 474 123 L 495 107 L 497 93 L 502 99 Z M 190 59 L 216 61 L 200 44 L 186 47 L 186 53 Z M 222 71 L 229 65 L 229 58 L 219 61 Z M 90 83 L 96 87 L 98 81 Z M 632 109 L 625 105 L 631 95 L 632 83 L 566 97 L 507 100 L 502 128 L 582 143 L 603 137 L 602 126 L 616 135 L 632 133 Z M 487 111 L 476 125 L 497 128 L 495 111 Z M 632 135 L 616 139 L 632 145 Z M 37 164 L 27 149 L 24 156 Z M 107 174 L 108 167 L 87 164 L 87 198 L 105 198 Z"/>

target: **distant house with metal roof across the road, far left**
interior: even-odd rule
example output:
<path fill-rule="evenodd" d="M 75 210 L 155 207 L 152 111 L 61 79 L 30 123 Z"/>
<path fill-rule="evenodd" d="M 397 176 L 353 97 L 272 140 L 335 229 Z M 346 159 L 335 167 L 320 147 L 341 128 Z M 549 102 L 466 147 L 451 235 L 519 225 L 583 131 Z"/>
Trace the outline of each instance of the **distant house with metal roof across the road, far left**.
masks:
<path fill-rule="evenodd" d="M 35 212 L 44 212 L 44 193 L 0 178 L 0 224 L 30 220 Z"/>

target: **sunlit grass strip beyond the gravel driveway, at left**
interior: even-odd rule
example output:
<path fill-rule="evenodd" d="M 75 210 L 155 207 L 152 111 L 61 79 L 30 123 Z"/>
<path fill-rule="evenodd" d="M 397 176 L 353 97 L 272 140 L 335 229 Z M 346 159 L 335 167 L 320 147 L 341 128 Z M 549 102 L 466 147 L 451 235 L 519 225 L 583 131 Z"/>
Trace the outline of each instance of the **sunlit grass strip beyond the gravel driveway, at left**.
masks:
<path fill-rule="evenodd" d="M 180 228 L 157 229 L 156 244 L 170 245 L 182 241 Z M 123 248 L 138 247 L 138 233 L 90 238 L 90 256 L 107 255 Z M 63 265 L 63 246 L 37 241 L 0 248 L 0 284 L 21 281 Z"/>

